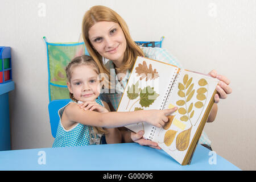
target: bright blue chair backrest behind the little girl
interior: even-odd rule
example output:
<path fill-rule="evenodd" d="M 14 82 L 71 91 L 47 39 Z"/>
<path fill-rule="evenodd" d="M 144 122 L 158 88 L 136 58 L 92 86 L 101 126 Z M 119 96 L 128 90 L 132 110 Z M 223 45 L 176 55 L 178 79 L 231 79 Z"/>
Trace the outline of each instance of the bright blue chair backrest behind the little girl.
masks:
<path fill-rule="evenodd" d="M 53 138 L 55 138 L 56 136 L 57 127 L 60 121 L 58 111 L 61 107 L 64 107 L 65 105 L 67 105 L 68 102 L 70 102 L 70 99 L 53 100 L 49 102 L 48 110 L 49 110 L 49 119 L 50 119 Z"/>

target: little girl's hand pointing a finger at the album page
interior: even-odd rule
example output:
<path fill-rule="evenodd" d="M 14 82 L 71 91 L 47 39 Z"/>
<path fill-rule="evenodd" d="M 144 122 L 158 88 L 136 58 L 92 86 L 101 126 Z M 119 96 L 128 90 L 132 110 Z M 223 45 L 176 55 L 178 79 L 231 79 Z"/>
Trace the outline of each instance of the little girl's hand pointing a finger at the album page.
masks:
<path fill-rule="evenodd" d="M 166 122 L 168 122 L 167 115 L 171 115 L 176 110 L 177 107 L 164 110 L 143 110 L 143 116 L 145 117 L 147 123 L 150 123 L 156 127 L 162 127 Z"/>

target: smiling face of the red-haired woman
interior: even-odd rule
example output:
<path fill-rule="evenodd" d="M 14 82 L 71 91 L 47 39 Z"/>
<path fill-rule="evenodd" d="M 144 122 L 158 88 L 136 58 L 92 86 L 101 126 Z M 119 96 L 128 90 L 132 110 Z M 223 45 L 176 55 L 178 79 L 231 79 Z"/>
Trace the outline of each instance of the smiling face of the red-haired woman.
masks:
<path fill-rule="evenodd" d="M 126 39 L 122 28 L 114 22 L 97 22 L 89 29 L 89 40 L 102 57 L 122 65 Z"/>

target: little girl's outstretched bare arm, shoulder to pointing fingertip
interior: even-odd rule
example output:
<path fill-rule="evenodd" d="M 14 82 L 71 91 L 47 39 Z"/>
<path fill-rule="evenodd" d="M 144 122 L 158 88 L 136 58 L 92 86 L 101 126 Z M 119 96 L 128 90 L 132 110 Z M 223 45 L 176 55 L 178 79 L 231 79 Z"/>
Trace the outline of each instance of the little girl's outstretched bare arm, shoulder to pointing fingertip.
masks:
<path fill-rule="evenodd" d="M 68 121 L 90 126 L 113 128 L 138 122 L 147 122 L 156 127 L 162 127 L 168 121 L 167 115 L 174 113 L 176 110 L 177 107 L 165 110 L 98 113 L 96 111 L 82 110 L 76 103 L 71 103 L 65 108 L 64 113 Z"/>

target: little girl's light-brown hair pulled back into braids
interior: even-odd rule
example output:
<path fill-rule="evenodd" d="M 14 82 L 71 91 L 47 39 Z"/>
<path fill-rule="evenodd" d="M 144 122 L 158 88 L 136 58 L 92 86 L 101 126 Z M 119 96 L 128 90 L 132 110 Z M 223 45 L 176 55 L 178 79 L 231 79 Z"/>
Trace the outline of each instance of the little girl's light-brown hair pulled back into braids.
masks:
<path fill-rule="evenodd" d="M 66 75 L 67 75 L 67 79 L 68 82 L 71 82 L 71 77 L 72 77 L 72 71 L 73 68 L 78 67 L 80 65 L 90 65 L 92 66 L 92 69 L 97 73 L 100 74 L 100 68 L 98 67 L 98 64 L 96 63 L 96 61 L 94 61 L 92 59 L 92 57 L 90 56 L 86 56 L 86 55 L 82 55 L 82 56 L 78 56 L 75 57 L 74 59 L 72 59 L 70 61 L 70 63 L 67 65 L 65 71 L 66 71 Z M 73 100 L 78 102 L 78 100 L 76 100 L 76 98 L 73 96 L 72 93 L 69 92 L 69 97 Z M 102 127 L 94 127 L 93 126 L 94 131 L 96 131 L 96 133 L 99 134 L 106 134 L 107 131 L 104 130 Z"/>

